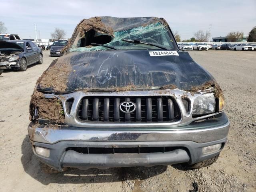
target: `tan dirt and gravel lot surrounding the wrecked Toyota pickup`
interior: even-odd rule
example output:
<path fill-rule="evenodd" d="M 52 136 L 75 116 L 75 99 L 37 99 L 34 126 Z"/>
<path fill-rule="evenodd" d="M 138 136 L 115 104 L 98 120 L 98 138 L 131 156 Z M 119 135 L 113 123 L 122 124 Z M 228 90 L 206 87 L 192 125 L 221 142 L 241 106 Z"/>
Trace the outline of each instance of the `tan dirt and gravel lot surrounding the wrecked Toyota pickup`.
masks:
<path fill-rule="evenodd" d="M 218 161 L 200 170 L 172 166 L 68 170 L 48 175 L 33 156 L 27 126 L 36 80 L 56 58 L 44 51 L 44 63 L 26 72 L 0 76 L 0 191 L 202 192 L 256 191 L 256 52 L 191 51 L 220 83 L 231 121 L 228 142 Z"/>

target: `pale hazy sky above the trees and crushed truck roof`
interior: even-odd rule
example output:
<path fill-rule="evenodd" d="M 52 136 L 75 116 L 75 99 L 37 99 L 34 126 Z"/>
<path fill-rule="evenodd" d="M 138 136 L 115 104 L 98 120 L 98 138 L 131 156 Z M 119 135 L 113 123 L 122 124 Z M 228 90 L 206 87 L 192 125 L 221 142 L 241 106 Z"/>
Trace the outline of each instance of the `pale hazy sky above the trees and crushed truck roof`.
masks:
<path fill-rule="evenodd" d="M 248 35 L 256 26 L 256 0 L 1 0 L 0 21 L 8 33 L 21 38 L 51 38 L 55 28 L 70 38 L 84 18 L 94 16 L 164 18 L 182 40 L 198 30 L 210 30 L 211 37 L 231 31 Z"/>

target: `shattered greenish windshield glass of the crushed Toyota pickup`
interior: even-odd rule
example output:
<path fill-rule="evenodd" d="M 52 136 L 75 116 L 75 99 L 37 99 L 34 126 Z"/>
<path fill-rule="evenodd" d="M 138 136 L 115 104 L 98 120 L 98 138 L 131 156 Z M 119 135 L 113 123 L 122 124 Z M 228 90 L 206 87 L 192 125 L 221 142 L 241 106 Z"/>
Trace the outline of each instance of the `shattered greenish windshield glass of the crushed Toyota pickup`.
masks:
<path fill-rule="evenodd" d="M 164 26 L 161 22 L 114 32 L 114 37 L 110 40 L 110 42 L 104 44 L 113 46 L 119 50 L 160 49 L 156 46 L 146 44 L 124 42 L 122 39 L 140 40 L 148 43 L 160 44 L 170 50 L 174 49 L 172 36 L 166 26 Z M 76 45 L 73 44 L 70 48 L 70 52 L 110 50 L 109 48 L 103 46 L 92 47 L 88 45 L 81 47 L 80 44 L 82 40 L 83 39 L 81 38 Z"/>

